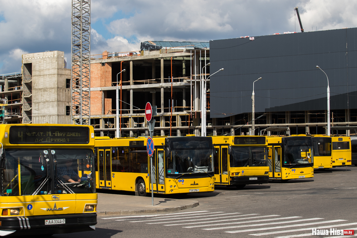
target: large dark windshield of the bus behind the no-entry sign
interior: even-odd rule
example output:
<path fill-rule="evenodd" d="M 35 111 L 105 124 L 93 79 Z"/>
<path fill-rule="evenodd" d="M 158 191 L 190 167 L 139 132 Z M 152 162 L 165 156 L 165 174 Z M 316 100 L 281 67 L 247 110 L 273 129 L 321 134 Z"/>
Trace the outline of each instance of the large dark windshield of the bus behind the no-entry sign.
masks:
<path fill-rule="evenodd" d="M 213 145 L 208 138 L 170 138 L 171 157 L 167 158 L 167 174 L 213 172 Z"/>

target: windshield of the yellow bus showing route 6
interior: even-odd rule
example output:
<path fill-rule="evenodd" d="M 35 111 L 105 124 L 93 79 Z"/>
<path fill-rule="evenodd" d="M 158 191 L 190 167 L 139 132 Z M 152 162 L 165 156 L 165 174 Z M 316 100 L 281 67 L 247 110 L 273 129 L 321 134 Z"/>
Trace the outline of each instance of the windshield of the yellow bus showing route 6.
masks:
<path fill-rule="evenodd" d="M 230 167 L 267 166 L 266 147 L 232 146 Z"/>

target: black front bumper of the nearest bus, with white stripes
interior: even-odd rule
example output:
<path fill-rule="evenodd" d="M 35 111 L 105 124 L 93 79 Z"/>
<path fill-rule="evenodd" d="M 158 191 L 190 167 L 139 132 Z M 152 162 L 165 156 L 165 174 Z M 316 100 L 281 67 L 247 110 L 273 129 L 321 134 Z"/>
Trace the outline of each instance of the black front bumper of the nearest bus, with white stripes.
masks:
<path fill-rule="evenodd" d="M 45 225 L 45 220 L 65 219 L 64 224 Z M 96 213 L 61 214 L 51 216 L 1 217 L 0 236 L 64 234 L 94 231 Z"/>

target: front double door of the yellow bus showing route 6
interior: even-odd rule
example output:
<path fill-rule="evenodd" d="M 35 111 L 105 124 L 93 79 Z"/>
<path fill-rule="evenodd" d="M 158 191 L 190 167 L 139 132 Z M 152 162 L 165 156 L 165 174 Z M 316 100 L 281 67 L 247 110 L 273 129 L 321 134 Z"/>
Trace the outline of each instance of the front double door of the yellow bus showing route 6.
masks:
<path fill-rule="evenodd" d="M 214 158 L 215 183 L 227 184 L 228 182 L 228 146 L 215 146 Z"/>

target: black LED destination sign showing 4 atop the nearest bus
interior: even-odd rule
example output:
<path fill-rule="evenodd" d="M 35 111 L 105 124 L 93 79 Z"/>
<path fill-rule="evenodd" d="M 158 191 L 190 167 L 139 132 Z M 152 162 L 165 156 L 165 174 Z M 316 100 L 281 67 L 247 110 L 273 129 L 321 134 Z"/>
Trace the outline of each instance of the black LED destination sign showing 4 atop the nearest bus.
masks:
<path fill-rule="evenodd" d="M 11 144 L 88 144 L 89 128 L 77 126 L 11 126 Z"/>

